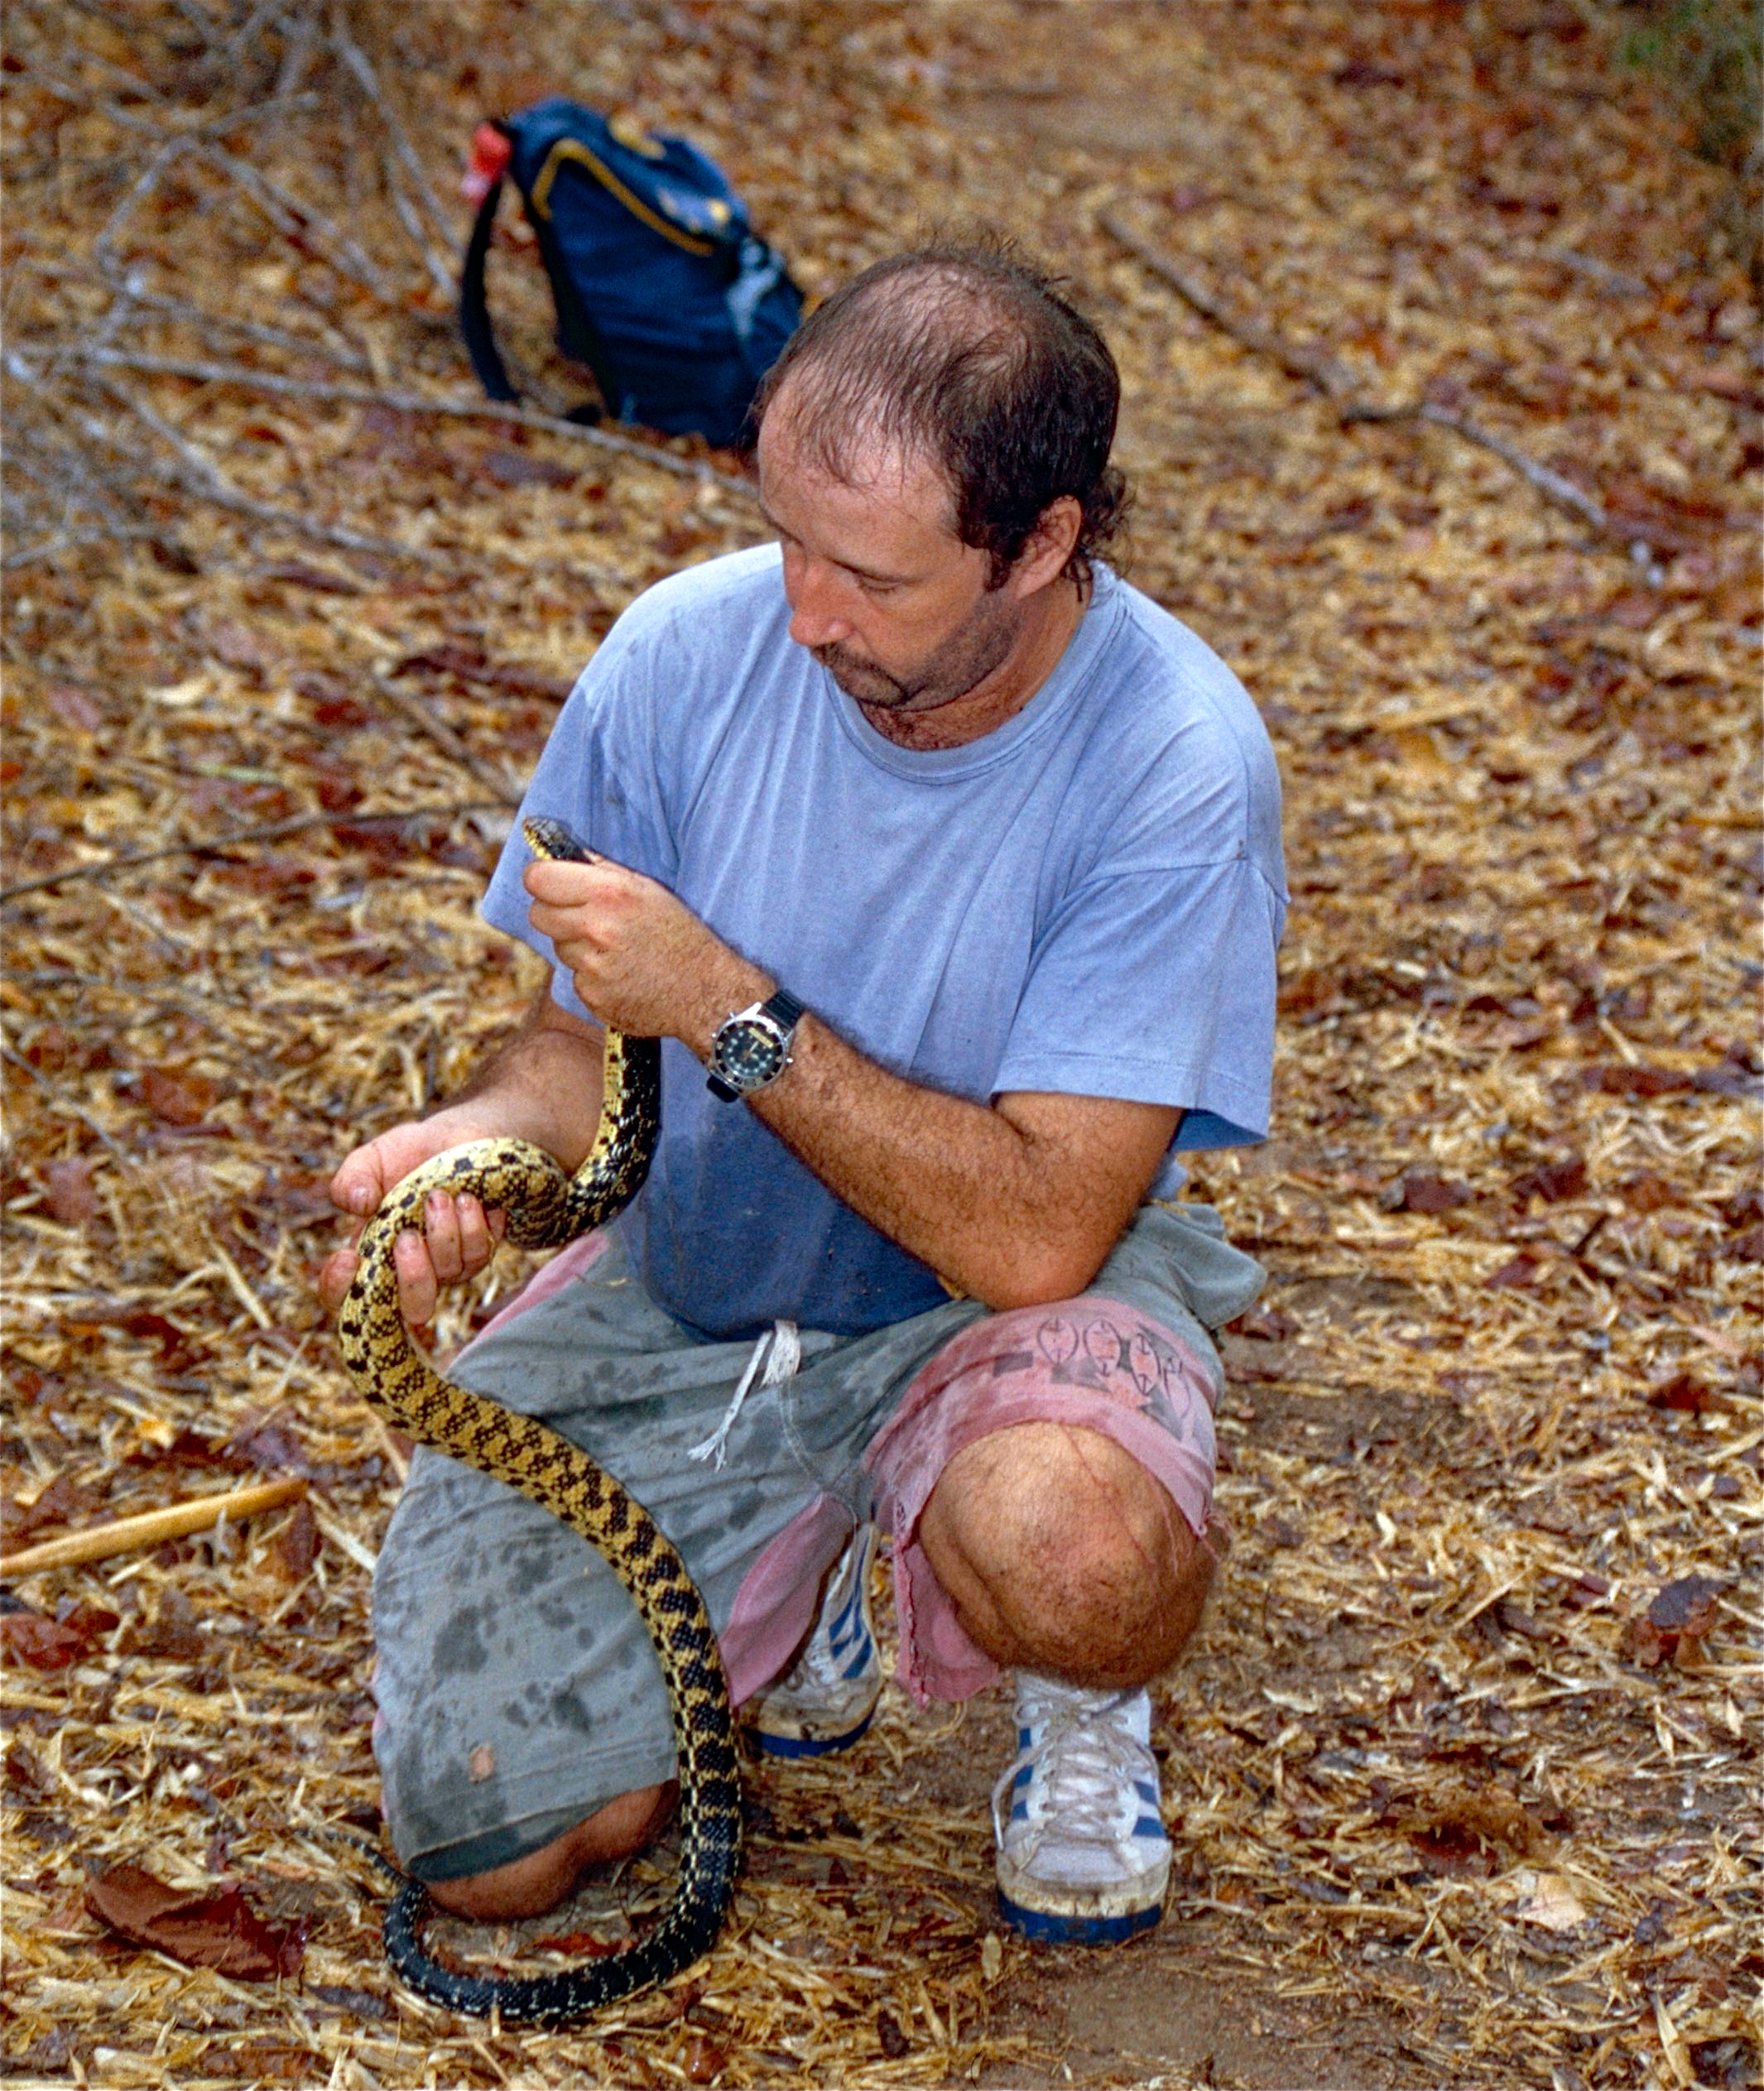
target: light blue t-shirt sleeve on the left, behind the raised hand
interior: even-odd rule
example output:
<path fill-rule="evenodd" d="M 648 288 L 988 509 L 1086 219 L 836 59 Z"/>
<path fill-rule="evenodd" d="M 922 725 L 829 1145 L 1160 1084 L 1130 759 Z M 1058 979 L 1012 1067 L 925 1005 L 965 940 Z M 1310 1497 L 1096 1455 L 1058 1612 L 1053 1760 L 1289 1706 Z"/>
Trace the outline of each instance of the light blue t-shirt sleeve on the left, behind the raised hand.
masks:
<path fill-rule="evenodd" d="M 648 636 L 644 636 L 648 638 Z M 527 922 L 531 901 L 520 874 L 533 853 L 520 834 L 529 813 L 550 813 L 589 849 L 663 884 L 673 884 L 675 847 L 654 749 L 654 675 L 644 638 L 614 629 L 571 690 L 520 813 L 483 897 L 483 918 L 531 945 L 552 968 L 552 999 L 573 1016 L 596 1018 L 579 1002 L 550 937 Z"/>

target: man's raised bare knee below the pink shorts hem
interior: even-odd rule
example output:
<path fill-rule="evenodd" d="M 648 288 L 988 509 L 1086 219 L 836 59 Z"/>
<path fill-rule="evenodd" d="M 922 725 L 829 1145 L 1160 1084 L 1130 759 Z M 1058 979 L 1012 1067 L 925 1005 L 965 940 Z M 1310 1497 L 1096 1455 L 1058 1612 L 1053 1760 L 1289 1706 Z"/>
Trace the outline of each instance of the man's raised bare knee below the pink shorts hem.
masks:
<path fill-rule="evenodd" d="M 1135 1685 L 1200 1623 L 1214 1556 L 1114 1439 L 1070 1424 L 997 1430 L 943 1470 L 920 1543 L 995 1662 Z"/>

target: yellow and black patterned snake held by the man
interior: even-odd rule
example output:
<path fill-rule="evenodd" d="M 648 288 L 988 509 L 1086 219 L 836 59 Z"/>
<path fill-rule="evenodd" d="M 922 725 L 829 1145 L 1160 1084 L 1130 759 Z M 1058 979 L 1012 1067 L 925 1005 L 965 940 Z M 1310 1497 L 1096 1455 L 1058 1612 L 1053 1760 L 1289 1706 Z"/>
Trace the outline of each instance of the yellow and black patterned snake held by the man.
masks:
<path fill-rule="evenodd" d="M 571 830 L 523 822 L 535 857 L 594 861 Z M 660 1131 L 660 1041 L 606 1031 L 602 1110 L 587 1158 L 571 1175 L 525 1140 L 472 1140 L 422 1163 L 362 1230 L 336 1336 L 359 1393 L 412 1439 L 493 1474 L 596 1547 L 631 1593 L 654 1641 L 673 1715 L 681 1855 L 675 1892 L 629 1947 L 539 1976 L 474 1976 L 433 1959 L 420 1880 L 403 1876 L 385 1926 L 397 1976 L 431 2003 L 504 2024 L 558 2026 L 667 1982 L 709 1953 L 723 1926 L 742 1853 L 736 1725 L 717 1633 L 704 1600 L 654 1518 L 585 1451 L 548 1424 L 443 1378 L 414 1345 L 399 1309 L 393 1244 L 422 1232 L 439 1190 L 508 1215 L 506 1240 L 558 1248 L 635 1198 Z"/>

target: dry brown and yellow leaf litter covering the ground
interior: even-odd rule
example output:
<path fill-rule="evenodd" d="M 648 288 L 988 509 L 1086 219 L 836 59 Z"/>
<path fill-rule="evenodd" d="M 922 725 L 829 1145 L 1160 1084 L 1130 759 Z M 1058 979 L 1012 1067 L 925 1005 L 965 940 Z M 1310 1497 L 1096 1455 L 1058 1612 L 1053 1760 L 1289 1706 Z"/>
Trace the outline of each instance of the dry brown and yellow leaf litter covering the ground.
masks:
<path fill-rule="evenodd" d="M 1756 2083 L 1758 312 L 1609 19 L 10 10 L 4 1547 L 307 1478 L 10 1585 L 13 2081 Z M 738 460 L 556 420 L 512 211 L 531 406 L 474 399 L 458 159 L 556 90 L 692 134 L 815 289 L 964 217 L 1070 272 L 1294 916 L 1277 1135 L 1196 1175 L 1275 1276 L 1164 1928 L 1001 1936 L 1005 1713 L 890 1690 L 755 1767 L 702 1966 L 533 2037 L 393 1986 L 339 1836 L 403 1451 L 309 1278 L 336 1158 L 533 991 L 472 901 L 571 677 L 759 535 Z M 556 1961 L 667 1863 L 445 1943 Z"/>

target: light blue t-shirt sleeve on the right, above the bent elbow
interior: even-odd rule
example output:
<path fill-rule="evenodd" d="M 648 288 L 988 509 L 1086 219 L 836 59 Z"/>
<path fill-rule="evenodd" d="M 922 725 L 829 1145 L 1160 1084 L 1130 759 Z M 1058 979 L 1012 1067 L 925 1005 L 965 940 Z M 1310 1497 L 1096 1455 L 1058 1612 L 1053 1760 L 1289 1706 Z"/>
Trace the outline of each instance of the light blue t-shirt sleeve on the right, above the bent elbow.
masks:
<path fill-rule="evenodd" d="M 1264 1138 L 1281 920 L 1248 857 L 1085 880 L 1037 943 L 997 1094 L 1177 1104 L 1179 1150 Z"/>

